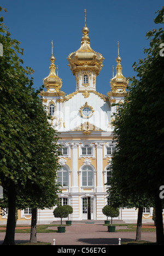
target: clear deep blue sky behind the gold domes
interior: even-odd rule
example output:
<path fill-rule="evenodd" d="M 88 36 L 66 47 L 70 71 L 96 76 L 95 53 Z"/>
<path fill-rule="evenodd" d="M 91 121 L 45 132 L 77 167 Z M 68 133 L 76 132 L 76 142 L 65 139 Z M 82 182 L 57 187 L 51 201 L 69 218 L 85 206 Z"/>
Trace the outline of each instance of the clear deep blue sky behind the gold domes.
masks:
<path fill-rule="evenodd" d="M 153 19 L 162 5 L 163 0 L 1 0 L 1 7 L 8 11 L 2 11 L 1 15 L 11 38 L 21 42 L 20 47 L 25 50 L 22 57 L 25 66 L 35 71 L 34 88 L 39 88 L 49 74 L 53 40 L 61 90 L 69 94 L 75 91 L 75 77 L 66 58 L 80 47 L 86 9 L 91 48 L 105 58 L 96 88 L 106 95 L 110 91 L 113 66 L 115 74 L 118 40 L 122 73 L 132 77 L 134 61 L 144 57 L 143 49 L 149 44 L 145 34 L 159 27 Z"/>

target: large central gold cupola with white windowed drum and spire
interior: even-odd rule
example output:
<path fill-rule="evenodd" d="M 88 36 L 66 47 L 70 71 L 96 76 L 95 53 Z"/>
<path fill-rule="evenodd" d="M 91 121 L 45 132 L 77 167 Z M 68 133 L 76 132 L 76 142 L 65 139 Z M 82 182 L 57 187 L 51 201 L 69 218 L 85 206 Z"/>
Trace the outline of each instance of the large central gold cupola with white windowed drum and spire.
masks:
<path fill-rule="evenodd" d="M 89 28 L 86 27 L 86 10 L 85 26 L 82 28 L 82 33 L 81 46 L 77 51 L 69 54 L 67 58 L 68 66 L 76 77 L 77 90 L 96 90 L 96 76 L 103 67 L 102 62 L 104 58 L 101 54 L 91 49 Z M 83 79 L 84 75 L 87 75 L 86 81 Z"/>

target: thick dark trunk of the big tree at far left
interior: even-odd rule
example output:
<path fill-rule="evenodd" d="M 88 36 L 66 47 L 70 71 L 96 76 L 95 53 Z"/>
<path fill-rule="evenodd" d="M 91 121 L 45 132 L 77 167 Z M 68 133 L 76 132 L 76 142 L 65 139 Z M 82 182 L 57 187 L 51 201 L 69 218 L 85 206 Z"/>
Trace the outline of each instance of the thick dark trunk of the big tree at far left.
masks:
<path fill-rule="evenodd" d="M 8 189 L 8 219 L 3 245 L 15 245 L 15 208 L 16 193 L 14 185 Z"/>

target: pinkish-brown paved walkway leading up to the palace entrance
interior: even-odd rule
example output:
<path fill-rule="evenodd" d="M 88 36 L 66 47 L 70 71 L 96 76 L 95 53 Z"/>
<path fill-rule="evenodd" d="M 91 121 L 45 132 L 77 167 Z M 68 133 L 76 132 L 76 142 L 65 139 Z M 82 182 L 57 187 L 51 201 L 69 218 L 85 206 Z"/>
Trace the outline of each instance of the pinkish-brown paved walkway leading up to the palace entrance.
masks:
<path fill-rule="evenodd" d="M 50 229 L 50 228 L 49 228 Z M 51 229 L 57 230 L 56 226 Z M 132 241 L 136 239 L 136 232 L 108 232 L 107 226 L 103 224 L 72 224 L 66 226 L 65 233 L 37 233 L 37 241 L 50 242 L 55 245 L 81 245 L 81 246 L 106 246 L 118 245 L 121 241 Z M 2 245 L 5 232 L 0 232 L 0 245 Z M 30 234 L 15 233 L 15 243 L 28 242 Z M 142 232 L 142 240 L 156 242 L 156 232 Z"/>

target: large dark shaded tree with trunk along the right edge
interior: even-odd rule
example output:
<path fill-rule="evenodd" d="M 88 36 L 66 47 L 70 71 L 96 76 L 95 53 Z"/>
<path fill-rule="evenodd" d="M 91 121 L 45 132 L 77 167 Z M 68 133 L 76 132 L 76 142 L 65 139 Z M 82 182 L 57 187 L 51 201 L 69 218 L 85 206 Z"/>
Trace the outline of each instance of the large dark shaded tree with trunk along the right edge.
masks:
<path fill-rule="evenodd" d="M 163 20 L 163 12 L 164 8 L 154 20 L 156 23 Z M 146 36 L 150 39 L 149 49 L 144 50 L 146 57 L 133 65 L 139 79 L 131 79 L 125 102 L 119 114 L 115 114 L 114 139 L 117 150 L 112 159 L 112 170 L 122 190 L 140 196 L 149 194 L 154 198 L 156 238 L 157 243 L 163 243 L 159 188 L 164 184 L 164 58 L 160 55 L 164 32 L 159 28 L 149 31 Z"/>

